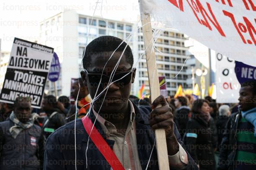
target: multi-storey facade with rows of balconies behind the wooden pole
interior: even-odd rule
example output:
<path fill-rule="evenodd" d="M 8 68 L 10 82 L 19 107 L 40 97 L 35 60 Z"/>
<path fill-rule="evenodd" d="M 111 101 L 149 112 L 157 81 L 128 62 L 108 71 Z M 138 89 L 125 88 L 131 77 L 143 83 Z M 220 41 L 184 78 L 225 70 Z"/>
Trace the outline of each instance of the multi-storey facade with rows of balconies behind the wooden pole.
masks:
<path fill-rule="evenodd" d="M 168 95 L 175 95 L 179 85 L 182 85 L 183 88 L 191 88 L 192 85 L 187 84 L 187 79 L 191 78 L 191 74 L 187 72 L 189 69 L 187 64 L 184 64 L 188 58 L 188 48 L 184 46 L 185 40 L 187 38 L 184 37 L 184 34 L 172 29 L 162 30 L 162 34 L 156 39 L 155 52 L 158 75 L 165 76 Z M 139 29 L 138 33 L 138 49 L 138 55 L 143 56 L 139 60 L 137 69 L 138 82 L 139 86 L 144 83 L 145 92 L 149 93 L 146 56 L 142 55 L 145 50 L 142 29 Z"/>

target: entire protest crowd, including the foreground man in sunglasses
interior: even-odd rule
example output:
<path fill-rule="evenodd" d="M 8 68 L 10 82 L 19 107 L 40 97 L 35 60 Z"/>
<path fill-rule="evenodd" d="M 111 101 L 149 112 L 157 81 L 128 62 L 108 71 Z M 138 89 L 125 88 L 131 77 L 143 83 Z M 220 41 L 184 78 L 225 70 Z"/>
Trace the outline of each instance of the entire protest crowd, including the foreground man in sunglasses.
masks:
<path fill-rule="evenodd" d="M 104 70 L 119 44 L 109 69 L 95 72 Z M 130 95 L 136 69 L 131 49 L 125 46 L 112 36 L 94 39 L 85 49 L 84 71 L 73 81 L 70 97 L 43 94 L 39 108 L 31 107 L 31 97 L 1 102 L 0 170 L 155 170 L 153 130 L 158 128 L 165 129 L 172 169 L 255 169 L 256 80 L 241 84 L 239 103 L 194 95 L 138 98 Z M 99 95 L 118 61 L 115 83 Z M 102 137 L 95 140 L 95 131 Z"/>

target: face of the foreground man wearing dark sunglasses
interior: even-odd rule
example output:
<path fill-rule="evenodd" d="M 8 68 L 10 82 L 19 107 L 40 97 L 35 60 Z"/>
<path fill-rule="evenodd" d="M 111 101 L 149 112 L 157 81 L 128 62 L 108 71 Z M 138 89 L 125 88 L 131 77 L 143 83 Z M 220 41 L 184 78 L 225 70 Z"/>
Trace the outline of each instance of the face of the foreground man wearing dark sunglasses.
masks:
<path fill-rule="evenodd" d="M 84 71 L 81 72 L 83 82 L 87 84 L 89 93 L 92 98 L 94 98 L 96 92 L 98 95 L 100 94 L 101 91 L 103 91 L 103 89 L 107 87 L 107 84 L 109 81 L 109 78 L 107 76 L 110 77 L 112 71 L 114 70 L 114 67 L 116 66 L 121 56 L 121 52 L 115 52 L 114 55 L 112 55 L 112 58 L 109 60 L 111 54 L 112 52 L 105 52 L 103 55 L 91 56 L 91 64 L 90 64 L 91 66 L 87 68 L 87 71 L 89 74 L 85 73 Z M 106 67 L 103 70 L 105 64 L 106 64 Z M 130 91 L 131 91 L 131 83 L 134 82 L 134 78 L 135 78 L 136 70 L 133 70 L 131 72 L 131 67 L 132 67 L 131 64 L 128 64 L 128 62 L 125 59 L 125 55 L 123 55 L 116 69 L 114 79 L 116 79 L 120 75 L 123 75 L 123 73 L 124 75 L 126 74 L 128 75 L 125 76 L 125 78 L 121 79 L 119 82 L 112 83 L 112 85 L 109 86 L 107 92 L 104 91 L 100 95 L 99 99 L 97 99 L 94 102 L 94 108 L 96 107 L 95 109 L 97 110 L 100 109 L 100 106 L 103 103 L 100 109 L 100 111 L 102 112 L 106 112 L 106 113 L 122 112 L 122 109 L 124 108 L 124 106 L 127 105 L 128 98 L 130 96 Z M 100 81 L 95 81 L 95 79 L 99 79 L 101 78 L 101 76 L 100 77 L 97 75 L 93 76 L 91 74 L 91 77 L 90 77 L 90 73 L 97 73 L 101 75 L 102 72 L 107 76 L 104 76 L 102 78 L 102 83 L 100 84 L 100 88 L 97 91 L 97 86 L 99 84 L 98 82 Z M 106 97 L 104 98 L 105 94 L 106 94 Z"/>

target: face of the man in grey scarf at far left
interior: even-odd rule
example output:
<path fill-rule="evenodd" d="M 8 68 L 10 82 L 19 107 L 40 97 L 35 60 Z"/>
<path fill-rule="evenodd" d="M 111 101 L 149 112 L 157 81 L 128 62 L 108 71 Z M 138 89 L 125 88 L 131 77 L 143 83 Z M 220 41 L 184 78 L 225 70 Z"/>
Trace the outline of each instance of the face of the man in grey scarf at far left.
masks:
<path fill-rule="evenodd" d="M 14 107 L 16 117 L 22 123 L 28 122 L 31 118 L 31 103 L 29 101 L 21 101 Z"/>

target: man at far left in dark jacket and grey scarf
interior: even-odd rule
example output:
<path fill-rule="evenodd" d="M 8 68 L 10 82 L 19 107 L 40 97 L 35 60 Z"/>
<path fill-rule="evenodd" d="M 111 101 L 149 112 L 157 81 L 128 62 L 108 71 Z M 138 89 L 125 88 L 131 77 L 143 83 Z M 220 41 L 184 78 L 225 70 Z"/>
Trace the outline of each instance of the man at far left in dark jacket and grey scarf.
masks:
<path fill-rule="evenodd" d="M 0 122 L 0 170 L 42 169 L 44 146 L 41 127 L 34 124 L 31 99 L 17 97 L 13 112 Z"/>

